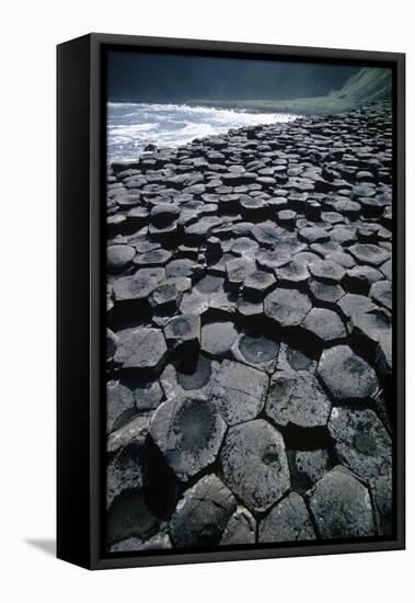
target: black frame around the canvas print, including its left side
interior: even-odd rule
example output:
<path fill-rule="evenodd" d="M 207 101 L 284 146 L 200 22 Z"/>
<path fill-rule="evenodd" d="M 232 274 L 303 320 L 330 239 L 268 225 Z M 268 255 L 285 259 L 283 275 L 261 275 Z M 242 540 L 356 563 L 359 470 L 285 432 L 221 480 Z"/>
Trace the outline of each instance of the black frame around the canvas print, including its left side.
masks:
<path fill-rule="evenodd" d="M 394 448 L 393 538 L 106 556 L 103 338 L 105 312 L 105 76 L 108 49 L 383 66 L 393 73 Z M 57 47 L 58 342 L 57 556 L 89 569 L 394 550 L 405 547 L 405 55 L 328 48 L 89 34 Z M 103 175 L 104 174 L 104 175 Z M 105 396 L 105 395 L 104 395 Z"/>

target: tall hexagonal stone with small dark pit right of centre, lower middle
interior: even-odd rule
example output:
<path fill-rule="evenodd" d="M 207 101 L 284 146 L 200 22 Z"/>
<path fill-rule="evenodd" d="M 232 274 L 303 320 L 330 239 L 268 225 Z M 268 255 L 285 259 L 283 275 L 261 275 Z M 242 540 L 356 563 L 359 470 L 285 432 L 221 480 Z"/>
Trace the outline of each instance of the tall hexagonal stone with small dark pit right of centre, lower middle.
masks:
<path fill-rule="evenodd" d="M 220 460 L 224 482 L 252 511 L 266 511 L 289 490 L 283 436 L 262 419 L 230 428 Z"/>

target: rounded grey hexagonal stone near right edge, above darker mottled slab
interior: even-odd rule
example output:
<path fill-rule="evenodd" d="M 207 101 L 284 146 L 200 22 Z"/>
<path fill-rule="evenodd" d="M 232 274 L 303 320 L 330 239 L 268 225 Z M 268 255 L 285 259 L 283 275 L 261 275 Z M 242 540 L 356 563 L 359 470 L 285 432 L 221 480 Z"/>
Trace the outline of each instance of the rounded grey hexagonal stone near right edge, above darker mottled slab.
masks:
<path fill-rule="evenodd" d="M 335 400 L 362 400 L 378 389 L 373 368 L 348 345 L 324 350 L 318 374 Z"/>

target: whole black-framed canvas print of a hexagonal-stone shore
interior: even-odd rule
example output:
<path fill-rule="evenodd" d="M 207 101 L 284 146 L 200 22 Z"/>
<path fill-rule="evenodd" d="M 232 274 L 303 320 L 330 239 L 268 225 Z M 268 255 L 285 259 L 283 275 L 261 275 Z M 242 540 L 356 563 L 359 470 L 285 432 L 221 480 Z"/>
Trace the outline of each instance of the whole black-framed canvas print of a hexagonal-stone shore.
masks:
<path fill-rule="evenodd" d="M 404 55 L 58 46 L 58 557 L 404 547 Z"/>

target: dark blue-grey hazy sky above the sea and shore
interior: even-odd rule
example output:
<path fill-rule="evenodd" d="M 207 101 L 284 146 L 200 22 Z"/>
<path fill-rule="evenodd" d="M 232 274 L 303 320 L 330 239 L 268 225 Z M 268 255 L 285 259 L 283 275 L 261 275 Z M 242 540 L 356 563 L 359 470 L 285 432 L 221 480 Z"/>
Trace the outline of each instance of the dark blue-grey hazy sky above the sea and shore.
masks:
<path fill-rule="evenodd" d="M 147 53 L 108 53 L 108 100 L 286 100 L 339 89 L 359 67 Z"/>

